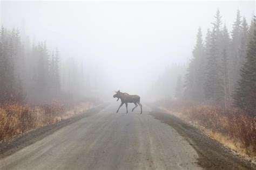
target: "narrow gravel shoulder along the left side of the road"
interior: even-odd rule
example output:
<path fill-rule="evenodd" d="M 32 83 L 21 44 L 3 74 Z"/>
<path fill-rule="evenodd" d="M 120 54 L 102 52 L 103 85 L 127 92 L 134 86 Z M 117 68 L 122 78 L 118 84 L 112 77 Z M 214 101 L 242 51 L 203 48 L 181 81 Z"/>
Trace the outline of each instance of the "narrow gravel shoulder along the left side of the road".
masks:
<path fill-rule="evenodd" d="M 81 112 L 76 116 L 72 116 L 62 121 L 19 134 L 18 136 L 15 136 L 6 141 L 0 141 L 0 159 L 8 157 L 9 155 L 21 150 L 22 148 L 29 146 L 36 141 L 43 139 L 46 136 L 49 136 L 53 132 L 63 128 L 66 125 L 75 123 L 80 119 L 89 117 L 93 114 L 97 114 L 99 111 L 106 108 L 109 104 L 110 103 L 99 104 L 95 108 Z"/>

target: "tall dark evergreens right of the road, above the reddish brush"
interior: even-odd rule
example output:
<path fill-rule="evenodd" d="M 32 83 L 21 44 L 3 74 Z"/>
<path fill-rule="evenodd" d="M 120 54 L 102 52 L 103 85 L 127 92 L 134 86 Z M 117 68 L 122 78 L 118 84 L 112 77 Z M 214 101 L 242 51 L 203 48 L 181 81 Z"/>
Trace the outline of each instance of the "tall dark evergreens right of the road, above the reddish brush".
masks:
<path fill-rule="evenodd" d="M 223 108 L 235 106 L 256 115 L 255 17 L 248 24 L 238 10 L 231 32 L 219 10 L 214 18 L 205 40 L 198 29 L 184 84 L 180 78 L 177 81 L 176 97 Z"/>

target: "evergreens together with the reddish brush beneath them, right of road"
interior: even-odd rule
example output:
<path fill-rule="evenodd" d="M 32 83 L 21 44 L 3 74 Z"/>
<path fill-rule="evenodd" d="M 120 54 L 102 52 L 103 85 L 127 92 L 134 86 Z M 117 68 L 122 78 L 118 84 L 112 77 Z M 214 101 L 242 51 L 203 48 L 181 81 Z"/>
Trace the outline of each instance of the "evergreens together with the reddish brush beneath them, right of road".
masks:
<path fill-rule="evenodd" d="M 248 24 L 237 10 L 233 29 L 229 32 L 217 10 L 205 40 L 201 28 L 198 29 L 186 74 L 181 76 L 177 73 L 175 97 L 166 96 L 165 100 L 158 102 L 159 107 L 203 129 L 210 137 L 240 154 L 250 155 L 254 159 L 255 24 L 255 17 Z"/>

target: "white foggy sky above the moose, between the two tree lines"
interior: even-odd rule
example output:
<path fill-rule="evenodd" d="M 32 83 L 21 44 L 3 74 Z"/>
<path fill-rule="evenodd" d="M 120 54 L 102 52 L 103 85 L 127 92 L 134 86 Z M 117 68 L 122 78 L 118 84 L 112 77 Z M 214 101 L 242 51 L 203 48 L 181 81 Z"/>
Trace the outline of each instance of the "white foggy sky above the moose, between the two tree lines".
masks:
<path fill-rule="evenodd" d="M 1 1 L 0 5 L 1 25 L 18 27 L 31 44 L 46 40 L 50 50 L 58 47 L 61 62 L 75 58 L 86 75 L 100 77 L 97 90 L 107 95 L 114 90 L 150 93 L 167 67 L 187 67 L 198 27 L 205 38 L 218 9 L 228 30 L 237 9 L 248 23 L 255 10 L 254 1 Z"/>

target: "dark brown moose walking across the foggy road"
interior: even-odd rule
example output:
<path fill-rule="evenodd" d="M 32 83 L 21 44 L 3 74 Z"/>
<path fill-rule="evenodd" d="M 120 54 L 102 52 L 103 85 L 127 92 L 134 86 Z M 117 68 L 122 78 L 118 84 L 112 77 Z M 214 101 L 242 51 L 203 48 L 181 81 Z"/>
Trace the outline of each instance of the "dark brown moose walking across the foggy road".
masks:
<path fill-rule="evenodd" d="M 138 107 L 140 107 L 140 114 L 142 114 L 142 104 L 140 104 L 140 97 L 138 95 L 129 95 L 127 93 L 122 93 L 120 90 L 114 91 L 116 94 L 113 95 L 114 98 L 117 97 L 117 101 L 119 98 L 121 99 L 121 104 L 119 105 L 119 108 L 117 109 L 117 112 L 119 111 L 120 107 L 125 103 L 126 106 L 126 114 L 128 113 L 128 103 L 134 103 L 135 107 L 132 109 L 132 111 Z"/>

